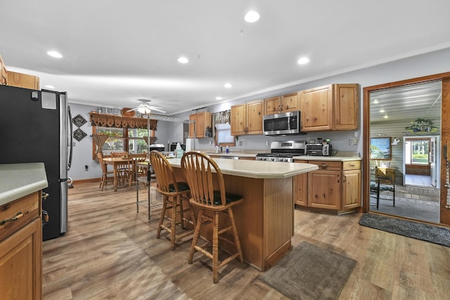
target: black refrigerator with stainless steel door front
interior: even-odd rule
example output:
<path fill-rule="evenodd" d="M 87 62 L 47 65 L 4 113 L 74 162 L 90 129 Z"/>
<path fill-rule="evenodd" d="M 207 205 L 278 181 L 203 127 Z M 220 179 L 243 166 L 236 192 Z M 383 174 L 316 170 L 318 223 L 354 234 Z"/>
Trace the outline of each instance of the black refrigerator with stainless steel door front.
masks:
<path fill-rule="evenodd" d="M 49 221 L 43 240 L 68 231 L 68 169 L 72 117 L 65 92 L 0 86 L 0 164 L 44 162 L 49 194 L 42 209 Z"/>

